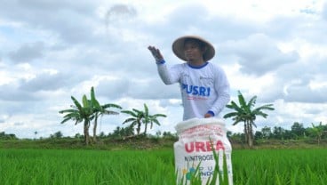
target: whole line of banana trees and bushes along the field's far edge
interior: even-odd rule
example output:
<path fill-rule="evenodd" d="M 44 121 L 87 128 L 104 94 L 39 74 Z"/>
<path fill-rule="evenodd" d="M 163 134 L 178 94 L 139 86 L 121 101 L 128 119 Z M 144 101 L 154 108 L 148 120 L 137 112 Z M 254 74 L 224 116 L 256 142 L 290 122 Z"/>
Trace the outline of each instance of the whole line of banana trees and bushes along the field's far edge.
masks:
<path fill-rule="evenodd" d="M 71 96 L 73 105 L 70 109 L 60 110 L 60 114 L 63 114 L 63 120 L 60 122 L 64 124 L 69 120 L 73 120 L 75 125 L 79 123 L 84 124 L 84 134 L 76 134 L 76 137 L 83 137 L 84 143 L 86 145 L 96 142 L 97 137 L 116 137 L 116 138 L 132 138 L 141 135 L 147 135 L 148 129 L 152 129 L 153 125 L 160 125 L 158 117 L 166 117 L 164 114 L 149 114 L 149 109 L 147 104 L 144 103 L 144 109 L 131 109 L 122 110 L 123 108 L 114 103 L 107 103 L 100 105 L 100 102 L 96 99 L 94 88 L 91 88 L 91 99 L 88 99 L 84 94 L 82 97 L 82 102 L 76 100 L 74 96 Z M 298 122 L 291 125 L 291 130 L 286 130 L 280 126 L 275 126 L 273 128 L 264 126 L 260 131 L 253 132 L 253 126 L 257 127 L 255 120 L 257 117 L 267 118 L 266 110 L 275 110 L 273 104 L 262 105 L 260 107 L 255 107 L 257 96 L 253 96 L 250 101 L 245 101 L 243 94 L 238 92 L 237 96 L 238 102 L 231 101 L 227 104 L 227 109 L 232 111 L 224 115 L 224 118 L 231 118 L 237 125 L 243 123 L 243 133 L 231 133 L 227 132 L 227 137 L 232 141 L 244 141 L 251 148 L 253 146 L 253 141 L 258 140 L 299 140 L 303 138 L 314 138 L 318 144 L 322 139 L 327 137 L 327 125 L 323 125 L 322 122 L 319 125 L 311 124 L 312 127 L 304 128 L 303 124 Z M 113 133 L 109 133 L 107 136 L 104 133 L 98 135 L 97 125 L 98 119 L 105 115 L 119 115 L 126 114 L 130 117 L 124 120 L 123 125 L 125 127 L 116 127 Z M 92 136 L 90 136 L 89 129 L 92 127 Z M 141 131 L 141 127 L 144 126 L 144 130 Z M 136 133 L 134 133 L 136 131 Z M 36 132 L 37 134 L 37 132 Z M 161 133 L 156 133 L 157 136 Z M 163 136 L 168 136 L 171 138 L 177 138 L 176 134 L 163 133 Z M 51 138 L 60 138 L 62 133 L 57 132 L 51 135 Z M 0 133 L 0 139 L 15 139 L 14 134 Z"/>

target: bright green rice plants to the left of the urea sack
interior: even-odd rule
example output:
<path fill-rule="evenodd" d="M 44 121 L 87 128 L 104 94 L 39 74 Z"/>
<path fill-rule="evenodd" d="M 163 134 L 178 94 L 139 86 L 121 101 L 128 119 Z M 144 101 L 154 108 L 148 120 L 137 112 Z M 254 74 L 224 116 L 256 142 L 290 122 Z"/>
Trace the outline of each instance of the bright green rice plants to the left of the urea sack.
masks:
<path fill-rule="evenodd" d="M 167 151 L 2 149 L 2 184 L 164 184 L 174 175 Z"/>

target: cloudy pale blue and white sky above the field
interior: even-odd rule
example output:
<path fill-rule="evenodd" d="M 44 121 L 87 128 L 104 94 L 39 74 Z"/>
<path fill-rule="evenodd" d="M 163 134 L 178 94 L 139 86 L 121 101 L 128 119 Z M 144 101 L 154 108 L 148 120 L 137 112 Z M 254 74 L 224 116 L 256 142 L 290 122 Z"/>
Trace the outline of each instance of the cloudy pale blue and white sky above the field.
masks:
<path fill-rule="evenodd" d="M 228 3 L 227 3 L 228 2 Z M 0 0 L 0 132 L 19 138 L 83 133 L 60 125 L 70 96 L 92 86 L 101 104 L 164 113 L 157 131 L 174 131 L 182 118 L 179 85 L 157 75 L 148 45 L 168 65 L 174 39 L 203 36 L 216 48 L 211 62 L 225 69 L 232 100 L 241 91 L 256 106 L 273 103 L 263 126 L 327 123 L 327 2 L 323 0 Z M 229 110 L 225 109 L 223 114 Z M 111 133 L 125 115 L 103 117 Z M 232 132 L 243 132 L 242 125 Z M 37 136 L 35 135 L 37 132 Z"/>

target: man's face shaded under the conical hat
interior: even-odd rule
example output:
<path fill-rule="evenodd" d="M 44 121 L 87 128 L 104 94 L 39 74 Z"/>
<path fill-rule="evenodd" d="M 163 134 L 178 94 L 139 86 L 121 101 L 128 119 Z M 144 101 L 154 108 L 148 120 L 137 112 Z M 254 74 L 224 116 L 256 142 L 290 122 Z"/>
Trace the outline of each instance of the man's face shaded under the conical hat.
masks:
<path fill-rule="evenodd" d="M 188 40 L 184 44 L 184 54 L 187 61 L 200 61 L 203 60 L 203 51 L 200 44 L 195 40 Z"/>

